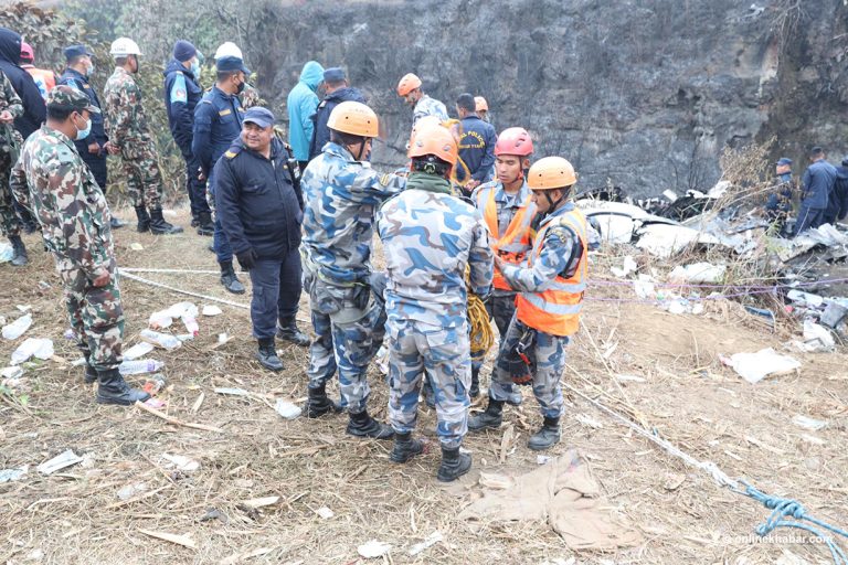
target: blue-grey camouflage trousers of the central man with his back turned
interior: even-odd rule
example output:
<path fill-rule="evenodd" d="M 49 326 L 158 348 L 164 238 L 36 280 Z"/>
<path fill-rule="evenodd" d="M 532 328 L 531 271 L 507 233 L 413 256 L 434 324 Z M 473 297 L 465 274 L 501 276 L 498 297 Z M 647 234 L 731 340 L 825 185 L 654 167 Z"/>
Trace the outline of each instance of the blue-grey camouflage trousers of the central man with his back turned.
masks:
<path fill-rule="evenodd" d="M 414 320 L 390 320 L 389 423 L 395 433 L 415 429 L 418 394 L 424 375 L 436 401 L 436 435 L 444 447 L 455 448 L 468 431 L 471 363 L 468 326 L 441 328 Z"/>

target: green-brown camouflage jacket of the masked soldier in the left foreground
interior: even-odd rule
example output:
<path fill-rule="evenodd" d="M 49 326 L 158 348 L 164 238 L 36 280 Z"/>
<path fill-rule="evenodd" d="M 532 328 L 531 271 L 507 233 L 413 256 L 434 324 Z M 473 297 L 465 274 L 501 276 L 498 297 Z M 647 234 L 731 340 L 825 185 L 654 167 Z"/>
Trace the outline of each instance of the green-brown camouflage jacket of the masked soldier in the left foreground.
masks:
<path fill-rule="evenodd" d="M 12 192 L 39 217 L 56 269 L 81 269 L 89 280 L 115 268 L 112 214 L 103 191 L 61 131 L 42 126 L 12 169 Z"/>

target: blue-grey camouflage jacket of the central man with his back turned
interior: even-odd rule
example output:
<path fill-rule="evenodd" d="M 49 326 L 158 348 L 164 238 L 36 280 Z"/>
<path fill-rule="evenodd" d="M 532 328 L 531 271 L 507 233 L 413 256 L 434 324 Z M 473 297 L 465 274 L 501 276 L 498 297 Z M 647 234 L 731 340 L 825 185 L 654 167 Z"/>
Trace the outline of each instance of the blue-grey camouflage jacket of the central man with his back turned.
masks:
<path fill-rule="evenodd" d="M 492 253 L 480 213 L 449 193 L 447 181 L 410 174 L 406 190 L 378 213 L 389 280 L 389 319 L 455 328 L 465 323 L 466 267 L 470 289 L 489 295 Z"/>

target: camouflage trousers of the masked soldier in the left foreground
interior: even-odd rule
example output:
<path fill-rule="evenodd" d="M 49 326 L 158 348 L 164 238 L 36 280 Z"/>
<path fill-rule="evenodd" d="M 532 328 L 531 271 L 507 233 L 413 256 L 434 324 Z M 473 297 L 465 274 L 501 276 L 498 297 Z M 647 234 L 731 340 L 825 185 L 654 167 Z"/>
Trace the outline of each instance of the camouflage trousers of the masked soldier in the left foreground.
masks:
<path fill-rule="evenodd" d="M 81 269 L 61 271 L 60 277 L 77 347 L 97 371 L 117 369 L 121 361 L 124 308 L 115 269 L 105 287 L 93 287 Z"/>

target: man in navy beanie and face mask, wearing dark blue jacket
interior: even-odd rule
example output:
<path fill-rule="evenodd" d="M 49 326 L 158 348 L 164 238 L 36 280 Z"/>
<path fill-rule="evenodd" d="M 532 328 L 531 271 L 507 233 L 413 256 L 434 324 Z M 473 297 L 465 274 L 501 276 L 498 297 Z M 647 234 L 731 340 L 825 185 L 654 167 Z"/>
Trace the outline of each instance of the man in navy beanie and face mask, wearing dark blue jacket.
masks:
<path fill-rule="evenodd" d="M 173 58 L 165 68 L 165 107 L 171 136 L 186 161 L 186 192 L 191 206 L 191 225 L 198 228 L 198 235 L 211 236 L 215 227 L 206 203 L 206 183 L 198 177 L 200 163 L 191 150 L 194 108 L 202 97 L 198 50 L 190 42 L 179 40 L 173 45 Z"/>

